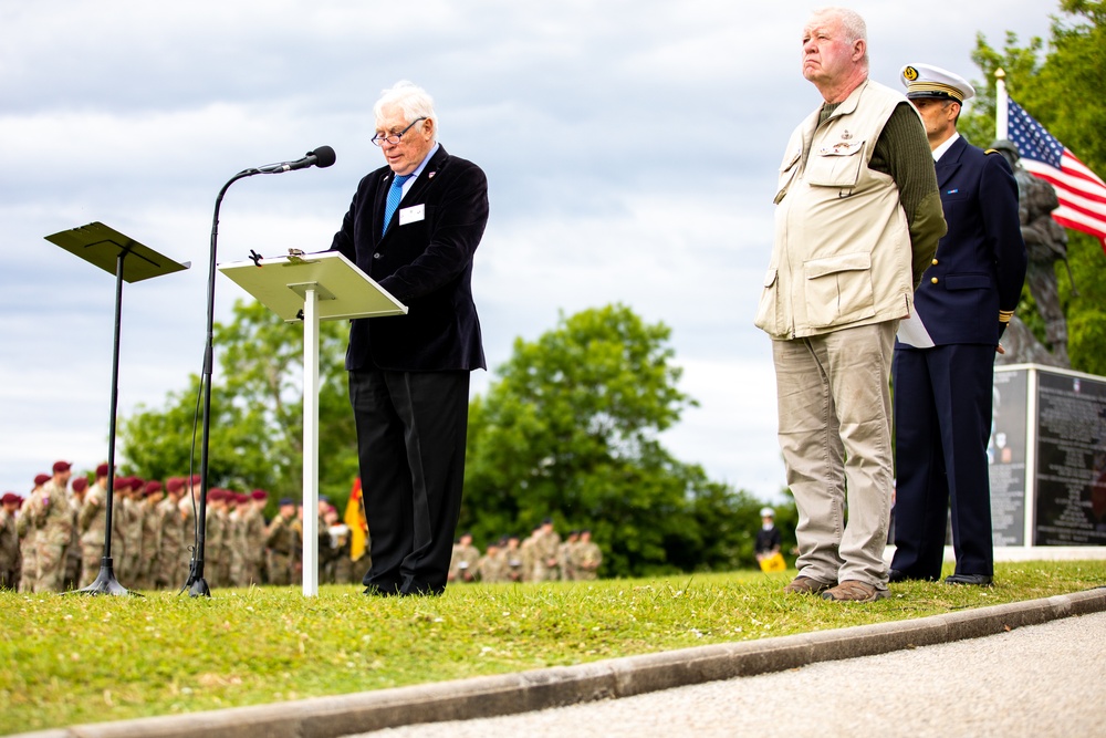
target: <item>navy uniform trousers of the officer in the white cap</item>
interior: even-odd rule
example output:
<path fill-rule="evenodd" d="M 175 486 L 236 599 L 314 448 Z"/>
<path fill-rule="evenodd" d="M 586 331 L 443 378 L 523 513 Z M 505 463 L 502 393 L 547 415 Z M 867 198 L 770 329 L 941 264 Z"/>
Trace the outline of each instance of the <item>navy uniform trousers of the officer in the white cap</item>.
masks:
<path fill-rule="evenodd" d="M 993 374 L 994 346 L 896 350 L 891 569 L 917 579 L 941 575 L 951 501 L 957 573 L 994 573 L 987 462 Z"/>

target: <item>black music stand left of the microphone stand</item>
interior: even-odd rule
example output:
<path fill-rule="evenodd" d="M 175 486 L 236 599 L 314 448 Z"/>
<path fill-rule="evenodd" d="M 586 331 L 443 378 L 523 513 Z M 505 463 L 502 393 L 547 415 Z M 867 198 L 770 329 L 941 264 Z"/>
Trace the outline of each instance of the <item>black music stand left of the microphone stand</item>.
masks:
<path fill-rule="evenodd" d="M 131 594 L 115 579 L 112 562 L 112 516 L 115 498 L 115 416 L 119 398 L 119 332 L 123 324 L 123 282 L 140 282 L 154 277 L 170 274 L 188 269 L 190 262 L 178 263 L 138 241 L 108 228 L 102 222 L 91 222 L 87 226 L 63 230 L 45 239 L 62 247 L 70 253 L 81 257 L 88 263 L 100 267 L 109 274 L 115 274 L 115 345 L 112 352 L 112 416 L 108 425 L 107 446 L 107 501 L 105 514 L 107 526 L 104 530 L 104 558 L 100 562 L 100 574 L 96 580 L 76 590 L 76 594 Z M 127 257 L 131 257 L 129 259 Z"/>

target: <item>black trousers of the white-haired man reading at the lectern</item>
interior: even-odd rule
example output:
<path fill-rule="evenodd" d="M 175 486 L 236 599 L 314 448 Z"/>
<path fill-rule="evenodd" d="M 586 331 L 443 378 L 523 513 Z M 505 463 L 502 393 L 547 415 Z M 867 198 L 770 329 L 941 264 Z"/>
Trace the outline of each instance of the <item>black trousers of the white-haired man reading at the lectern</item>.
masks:
<path fill-rule="evenodd" d="M 373 564 L 383 594 L 439 594 L 465 482 L 469 372 L 349 372 Z"/>

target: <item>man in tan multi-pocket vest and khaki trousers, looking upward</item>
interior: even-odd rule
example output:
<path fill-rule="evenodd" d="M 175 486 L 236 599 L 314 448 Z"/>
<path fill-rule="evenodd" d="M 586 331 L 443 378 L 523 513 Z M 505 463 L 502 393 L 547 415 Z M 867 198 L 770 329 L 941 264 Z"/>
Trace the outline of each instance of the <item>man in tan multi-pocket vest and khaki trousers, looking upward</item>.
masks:
<path fill-rule="evenodd" d="M 815 11 L 802 69 L 823 100 L 780 168 L 755 320 L 773 339 L 780 447 L 800 510 L 799 576 L 785 591 L 870 602 L 888 596 L 891 347 L 945 219 L 921 118 L 868 80 L 864 20 Z"/>

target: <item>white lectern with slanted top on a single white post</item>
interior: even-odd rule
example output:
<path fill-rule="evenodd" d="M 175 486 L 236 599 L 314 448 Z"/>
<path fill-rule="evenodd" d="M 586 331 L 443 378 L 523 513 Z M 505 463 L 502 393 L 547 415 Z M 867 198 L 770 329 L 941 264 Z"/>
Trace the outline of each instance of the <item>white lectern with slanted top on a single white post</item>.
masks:
<path fill-rule="evenodd" d="M 285 322 L 303 321 L 303 594 L 319 594 L 319 322 L 404 315 L 407 306 L 337 251 L 221 264 Z"/>

